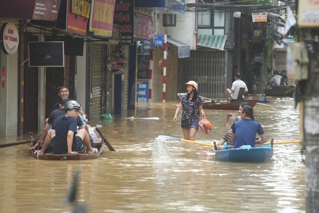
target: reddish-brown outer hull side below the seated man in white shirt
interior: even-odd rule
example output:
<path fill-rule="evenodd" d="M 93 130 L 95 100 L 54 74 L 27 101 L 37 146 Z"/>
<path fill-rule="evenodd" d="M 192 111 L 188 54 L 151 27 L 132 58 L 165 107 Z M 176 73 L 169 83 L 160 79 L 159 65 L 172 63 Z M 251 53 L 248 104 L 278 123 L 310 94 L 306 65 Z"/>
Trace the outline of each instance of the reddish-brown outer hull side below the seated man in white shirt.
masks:
<path fill-rule="evenodd" d="M 231 103 L 225 102 L 214 102 L 214 103 L 207 103 L 203 102 L 204 109 L 217 109 L 217 110 L 238 110 L 239 105 L 243 102 L 248 102 L 250 106 L 254 107 L 259 99 L 244 99 L 241 101 L 235 101 Z"/>

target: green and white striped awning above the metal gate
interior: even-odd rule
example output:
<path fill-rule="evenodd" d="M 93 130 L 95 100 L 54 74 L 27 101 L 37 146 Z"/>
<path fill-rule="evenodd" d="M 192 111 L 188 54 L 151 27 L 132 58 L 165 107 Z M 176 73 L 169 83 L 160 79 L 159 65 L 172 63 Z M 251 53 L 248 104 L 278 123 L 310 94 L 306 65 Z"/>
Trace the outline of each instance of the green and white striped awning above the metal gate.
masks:
<path fill-rule="evenodd" d="M 225 50 L 227 35 L 198 35 L 198 46 Z"/>

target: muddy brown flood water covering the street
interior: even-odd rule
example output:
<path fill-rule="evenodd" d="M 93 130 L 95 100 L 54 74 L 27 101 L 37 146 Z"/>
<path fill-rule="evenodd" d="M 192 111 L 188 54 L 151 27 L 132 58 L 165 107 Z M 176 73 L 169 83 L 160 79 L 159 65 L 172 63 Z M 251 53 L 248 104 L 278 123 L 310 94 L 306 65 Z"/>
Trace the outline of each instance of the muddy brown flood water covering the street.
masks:
<path fill-rule="evenodd" d="M 259 97 L 253 97 L 259 98 Z M 300 140 L 299 106 L 293 98 L 267 97 L 272 106 L 256 105 L 255 120 L 268 141 Z M 89 213 L 304 213 L 305 165 L 299 144 L 276 145 L 266 163 L 229 163 L 215 159 L 211 147 L 157 138 L 182 138 L 179 101 L 139 106 L 90 121 L 117 152 L 96 160 L 44 161 L 30 156 L 28 145 L 0 148 L 0 212 L 60 213 L 71 210 L 65 199 L 75 170 L 81 171 L 77 201 Z M 196 141 L 212 144 L 225 133 L 224 113 L 205 110 L 212 132 Z M 126 119 L 134 116 L 138 119 Z M 155 119 L 139 119 L 158 117 Z M 3 139 L 2 139 L 3 143 Z"/>

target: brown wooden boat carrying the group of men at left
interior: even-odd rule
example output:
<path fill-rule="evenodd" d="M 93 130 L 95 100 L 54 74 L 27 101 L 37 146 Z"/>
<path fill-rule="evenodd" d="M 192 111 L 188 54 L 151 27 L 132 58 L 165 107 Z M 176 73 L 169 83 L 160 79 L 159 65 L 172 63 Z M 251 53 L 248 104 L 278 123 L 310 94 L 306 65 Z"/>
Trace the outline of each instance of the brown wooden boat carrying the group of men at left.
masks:
<path fill-rule="evenodd" d="M 104 146 L 106 143 L 106 139 L 103 135 L 99 134 L 100 131 L 94 130 L 97 137 L 93 138 L 94 145 L 98 148 L 99 152 L 95 154 L 86 154 L 86 153 L 78 153 L 78 154 L 54 154 L 54 153 L 46 153 L 46 154 L 34 154 L 33 150 L 31 151 L 31 155 L 35 158 L 41 159 L 41 160 L 55 160 L 55 161 L 62 161 L 62 160 L 89 160 L 89 159 L 95 159 L 99 157 L 99 155 L 103 152 Z M 101 132 L 100 132 L 101 133 Z M 32 142 L 31 142 L 32 144 Z M 31 146 L 31 145 L 30 145 Z"/>

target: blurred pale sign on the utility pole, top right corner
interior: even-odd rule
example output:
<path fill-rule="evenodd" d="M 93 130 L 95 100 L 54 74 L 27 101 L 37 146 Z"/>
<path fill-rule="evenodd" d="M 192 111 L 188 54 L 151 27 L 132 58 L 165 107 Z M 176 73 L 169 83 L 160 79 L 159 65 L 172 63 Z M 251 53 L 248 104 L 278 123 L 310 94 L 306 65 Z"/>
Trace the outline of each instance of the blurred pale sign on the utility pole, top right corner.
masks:
<path fill-rule="evenodd" d="M 298 2 L 298 28 L 319 27 L 319 1 L 299 0 Z"/>

